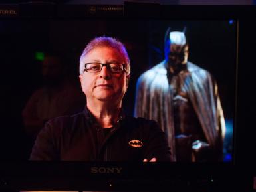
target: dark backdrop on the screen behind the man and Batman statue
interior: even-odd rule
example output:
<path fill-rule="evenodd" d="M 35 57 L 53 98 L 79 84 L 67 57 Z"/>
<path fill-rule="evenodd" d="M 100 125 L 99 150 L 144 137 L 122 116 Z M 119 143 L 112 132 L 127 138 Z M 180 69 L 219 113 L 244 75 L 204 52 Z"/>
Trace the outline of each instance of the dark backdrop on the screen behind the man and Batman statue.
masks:
<path fill-rule="evenodd" d="M 124 19 L 1 19 L 1 159 L 26 160 L 31 144 L 23 128 L 21 111 L 27 100 L 42 85 L 36 52 L 59 52 L 78 84 L 80 54 L 96 36 L 111 36 L 122 41 L 131 61 L 131 79 L 124 98 L 124 109 L 134 110 L 136 80 L 142 72 L 164 58 L 164 33 L 167 27 L 182 31 L 190 44 L 190 62 L 209 70 L 219 85 L 224 115 L 231 124 L 226 145 L 231 153 L 235 109 L 236 23 L 229 20 L 167 21 Z"/>

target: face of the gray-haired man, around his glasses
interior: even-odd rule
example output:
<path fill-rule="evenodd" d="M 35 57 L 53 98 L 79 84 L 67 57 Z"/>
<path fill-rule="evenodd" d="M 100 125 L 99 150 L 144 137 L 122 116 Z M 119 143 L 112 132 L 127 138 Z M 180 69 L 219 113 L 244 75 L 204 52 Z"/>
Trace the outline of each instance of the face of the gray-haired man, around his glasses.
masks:
<path fill-rule="evenodd" d="M 124 64 L 124 58 L 118 50 L 110 47 L 92 49 L 85 57 L 85 63 L 118 62 Z M 125 72 L 113 74 L 106 66 L 100 72 L 86 72 L 79 76 L 82 91 L 87 101 L 100 100 L 121 102 L 128 87 L 128 78 Z"/>

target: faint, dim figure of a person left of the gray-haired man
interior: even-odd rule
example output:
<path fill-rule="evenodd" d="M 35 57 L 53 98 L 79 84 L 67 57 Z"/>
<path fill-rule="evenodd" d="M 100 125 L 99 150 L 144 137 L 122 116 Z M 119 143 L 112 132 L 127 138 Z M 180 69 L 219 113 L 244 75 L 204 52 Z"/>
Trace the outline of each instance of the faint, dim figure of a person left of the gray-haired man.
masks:
<path fill-rule="evenodd" d="M 57 54 L 45 55 L 41 63 L 43 86 L 33 92 L 23 109 L 25 131 L 33 142 L 47 120 L 84 108 L 84 94 L 68 78 L 63 60 Z"/>

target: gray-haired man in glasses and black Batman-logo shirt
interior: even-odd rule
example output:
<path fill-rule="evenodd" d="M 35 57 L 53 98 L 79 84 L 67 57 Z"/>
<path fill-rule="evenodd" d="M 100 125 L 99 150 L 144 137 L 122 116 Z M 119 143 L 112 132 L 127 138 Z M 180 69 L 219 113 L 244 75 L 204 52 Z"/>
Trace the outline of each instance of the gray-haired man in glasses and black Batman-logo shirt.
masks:
<path fill-rule="evenodd" d="M 84 111 L 46 122 L 31 160 L 170 161 L 170 147 L 158 124 L 122 110 L 130 60 L 120 41 L 90 41 L 80 56 L 79 78 L 86 95 Z"/>

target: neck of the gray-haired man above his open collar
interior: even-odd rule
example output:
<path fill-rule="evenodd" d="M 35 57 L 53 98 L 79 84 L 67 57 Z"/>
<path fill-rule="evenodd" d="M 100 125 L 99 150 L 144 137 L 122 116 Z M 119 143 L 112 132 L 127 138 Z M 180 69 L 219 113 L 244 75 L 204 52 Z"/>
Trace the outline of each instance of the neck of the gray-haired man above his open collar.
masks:
<path fill-rule="evenodd" d="M 87 102 L 87 108 L 102 128 L 111 128 L 118 120 L 121 104 L 114 106 L 104 102 L 100 104 Z"/>

